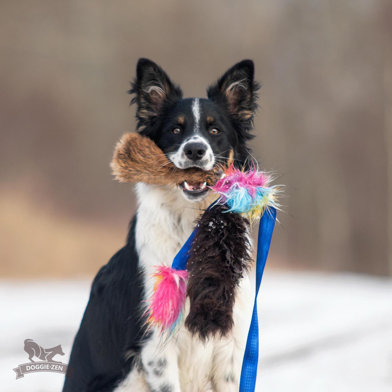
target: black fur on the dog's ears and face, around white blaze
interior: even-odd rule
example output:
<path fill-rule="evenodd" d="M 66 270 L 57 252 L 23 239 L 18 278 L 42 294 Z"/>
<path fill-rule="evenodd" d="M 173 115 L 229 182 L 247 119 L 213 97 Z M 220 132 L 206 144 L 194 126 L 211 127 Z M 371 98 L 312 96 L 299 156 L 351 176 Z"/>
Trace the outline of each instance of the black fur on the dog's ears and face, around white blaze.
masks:
<path fill-rule="evenodd" d="M 234 87 L 230 89 L 230 86 Z M 163 94 L 157 94 L 152 87 L 162 89 Z M 235 165 L 247 162 L 251 150 L 246 142 L 253 137 L 249 132 L 258 107 L 259 88 L 260 84 L 254 81 L 253 61 L 243 60 L 208 88 L 208 99 L 200 98 L 201 136 L 208 140 L 214 154 L 223 156 L 221 163 L 225 163 L 230 149 L 234 150 Z M 138 131 L 154 140 L 165 154 L 176 151 L 192 135 L 193 99 L 182 99 L 180 87 L 157 64 L 145 58 L 139 60 L 129 93 L 135 94 L 131 104 L 138 105 Z M 177 122 L 180 115 L 184 117 L 183 123 Z M 212 123 L 207 120 L 210 117 Z M 177 127 L 181 133 L 173 134 Z M 220 133 L 212 135 L 211 128 L 219 129 Z"/>

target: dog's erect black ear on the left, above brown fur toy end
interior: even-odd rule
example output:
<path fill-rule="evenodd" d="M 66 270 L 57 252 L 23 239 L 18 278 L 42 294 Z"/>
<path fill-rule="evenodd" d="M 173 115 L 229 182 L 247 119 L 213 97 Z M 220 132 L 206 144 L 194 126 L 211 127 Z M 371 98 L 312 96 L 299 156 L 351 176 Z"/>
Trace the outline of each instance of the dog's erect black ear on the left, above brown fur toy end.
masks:
<path fill-rule="evenodd" d="M 180 87 L 171 82 L 163 69 L 147 58 L 140 58 L 136 66 L 136 78 L 131 82 L 129 94 L 135 94 L 131 100 L 137 103 L 136 118 L 138 131 L 159 116 L 165 105 L 182 98 Z"/>

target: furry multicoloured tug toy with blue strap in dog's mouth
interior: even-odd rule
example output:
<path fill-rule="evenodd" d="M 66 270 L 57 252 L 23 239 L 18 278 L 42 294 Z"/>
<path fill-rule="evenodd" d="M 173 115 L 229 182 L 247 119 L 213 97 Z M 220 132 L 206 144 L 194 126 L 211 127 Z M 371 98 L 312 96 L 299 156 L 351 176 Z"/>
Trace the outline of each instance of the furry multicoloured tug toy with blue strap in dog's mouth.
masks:
<path fill-rule="evenodd" d="M 230 161 L 230 160 L 229 160 Z M 155 143 L 140 134 L 125 134 L 111 163 L 122 182 L 179 185 L 183 181 L 208 184 L 219 197 L 197 221 L 175 256 L 172 266 L 157 266 L 154 290 L 145 316 L 149 328 L 174 334 L 184 323 L 202 341 L 227 336 L 233 326 L 236 289 L 251 263 L 249 226 L 260 220 L 256 258 L 256 296 L 241 369 L 240 392 L 254 392 L 258 364 L 257 295 L 279 209 L 278 186 L 256 167 L 249 171 L 220 167 L 205 172 L 175 170 Z M 185 299 L 190 310 L 183 320 Z"/>

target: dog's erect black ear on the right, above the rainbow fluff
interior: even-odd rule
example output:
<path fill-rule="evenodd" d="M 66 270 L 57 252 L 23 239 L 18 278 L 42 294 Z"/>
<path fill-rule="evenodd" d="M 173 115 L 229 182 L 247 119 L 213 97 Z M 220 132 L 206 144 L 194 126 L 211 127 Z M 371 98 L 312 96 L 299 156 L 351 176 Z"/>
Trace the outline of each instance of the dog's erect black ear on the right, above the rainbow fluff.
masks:
<path fill-rule="evenodd" d="M 227 105 L 229 112 L 246 127 L 252 126 L 257 109 L 260 84 L 254 81 L 254 64 L 252 60 L 242 60 L 233 65 L 218 82 L 207 89 L 211 100 Z"/>

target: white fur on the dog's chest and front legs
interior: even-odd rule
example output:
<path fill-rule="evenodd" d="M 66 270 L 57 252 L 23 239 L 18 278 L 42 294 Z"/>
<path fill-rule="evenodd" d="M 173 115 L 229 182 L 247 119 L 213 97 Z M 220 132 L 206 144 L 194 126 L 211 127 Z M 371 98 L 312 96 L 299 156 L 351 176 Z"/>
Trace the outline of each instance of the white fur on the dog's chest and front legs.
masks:
<path fill-rule="evenodd" d="M 194 221 L 213 200 L 209 196 L 201 203 L 191 203 L 181 196 L 181 189 L 154 185 L 137 185 L 138 215 L 136 249 L 140 265 L 145 270 L 146 297 L 149 298 L 154 282 L 151 273 L 155 265 L 170 266 L 181 246 L 192 232 Z M 119 391 L 170 390 L 172 392 L 199 392 L 211 382 L 217 392 L 238 391 L 243 351 L 245 349 L 253 297 L 249 278 L 241 282 L 234 305 L 234 328 L 229 337 L 211 339 L 203 344 L 191 338 L 181 327 L 174 339 L 160 347 L 157 332 L 142 350 L 144 372 L 134 370 Z M 187 303 L 187 306 L 189 304 Z M 187 310 L 187 309 L 186 309 Z M 185 312 L 187 313 L 187 312 Z M 157 360 L 166 364 L 165 371 L 148 369 Z M 159 373 L 159 374 L 158 374 Z M 159 375 L 159 377 L 157 376 Z M 170 386 L 170 389 L 162 388 Z"/>

